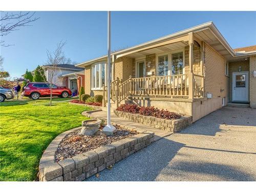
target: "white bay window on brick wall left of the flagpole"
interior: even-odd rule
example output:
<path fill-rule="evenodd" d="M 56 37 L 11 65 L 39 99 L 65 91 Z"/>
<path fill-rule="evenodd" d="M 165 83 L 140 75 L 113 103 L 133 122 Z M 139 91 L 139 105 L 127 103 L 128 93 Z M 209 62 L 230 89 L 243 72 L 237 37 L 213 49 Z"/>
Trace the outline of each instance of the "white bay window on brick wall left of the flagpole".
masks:
<path fill-rule="evenodd" d="M 105 84 L 105 63 L 92 66 L 92 89 L 101 89 Z"/>

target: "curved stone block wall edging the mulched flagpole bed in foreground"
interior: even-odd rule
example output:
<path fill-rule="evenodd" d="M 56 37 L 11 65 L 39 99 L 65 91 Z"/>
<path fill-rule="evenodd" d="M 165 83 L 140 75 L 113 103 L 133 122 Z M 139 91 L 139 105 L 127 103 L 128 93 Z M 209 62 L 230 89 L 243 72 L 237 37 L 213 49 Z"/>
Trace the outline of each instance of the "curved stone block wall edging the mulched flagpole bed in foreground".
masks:
<path fill-rule="evenodd" d="M 40 159 L 38 178 L 39 181 L 82 181 L 89 178 L 110 165 L 126 158 L 129 155 L 141 150 L 141 148 L 154 141 L 153 132 L 144 131 L 137 127 L 126 127 L 126 129 L 136 130 L 139 134 L 119 141 L 113 142 L 95 150 L 81 153 L 72 158 L 67 158 L 59 162 L 54 162 L 54 155 L 61 140 L 70 132 L 64 132 L 57 136 L 47 147 Z"/>

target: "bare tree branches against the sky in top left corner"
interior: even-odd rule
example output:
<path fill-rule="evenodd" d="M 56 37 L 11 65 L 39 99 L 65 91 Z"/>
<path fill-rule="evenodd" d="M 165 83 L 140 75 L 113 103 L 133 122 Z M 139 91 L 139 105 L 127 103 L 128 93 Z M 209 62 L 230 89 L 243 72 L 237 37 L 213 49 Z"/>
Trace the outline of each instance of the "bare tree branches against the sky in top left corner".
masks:
<path fill-rule="evenodd" d="M 4 13 L 1 11 L 1 13 Z M 3 16 L 2 16 L 3 15 Z M 5 13 L 0 16 L 0 36 L 6 36 L 20 27 L 31 26 L 30 24 L 39 17 L 35 17 L 35 12 Z M 0 40 L 0 46 L 8 47 L 4 40 Z"/>

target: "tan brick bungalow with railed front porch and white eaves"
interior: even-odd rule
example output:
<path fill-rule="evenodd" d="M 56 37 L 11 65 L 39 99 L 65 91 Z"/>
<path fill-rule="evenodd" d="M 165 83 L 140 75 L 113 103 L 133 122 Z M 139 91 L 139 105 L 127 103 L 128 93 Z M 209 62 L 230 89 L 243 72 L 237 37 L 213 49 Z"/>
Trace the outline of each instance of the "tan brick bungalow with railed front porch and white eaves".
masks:
<path fill-rule="evenodd" d="M 103 95 L 107 56 L 79 63 L 86 94 Z M 256 46 L 232 49 L 208 22 L 112 53 L 111 105 L 155 106 L 193 121 L 227 103 L 256 108 Z"/>

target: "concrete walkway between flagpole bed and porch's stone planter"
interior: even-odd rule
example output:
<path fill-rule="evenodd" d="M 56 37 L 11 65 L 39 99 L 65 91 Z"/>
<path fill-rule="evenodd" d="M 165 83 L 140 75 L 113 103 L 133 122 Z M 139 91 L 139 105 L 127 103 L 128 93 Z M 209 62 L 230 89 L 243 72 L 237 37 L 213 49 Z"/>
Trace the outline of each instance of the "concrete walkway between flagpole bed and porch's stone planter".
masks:
<path fill-rule="evenodd" d="M 99 112 L 90 113 L 90 115 L 94 116 L 94 117 L 101 118 L 101 119 L 106 119 L 106 116 L 107 116 L 105 111 L 99 111 Z M 112 122 L 116 122 L 116 123 L 129 124 L 131 126 L 136 126 L 136 127 L 140 128 L 142 130 L 155 132 L 155 141 L 157 141 L 157 140 L 159 140 L 159 139 L 161 139 L 163 137 L 166 137 L 168 135 L 172 135 L 173 134 L 172 132 L 167 132 L 167 131 L 155 129 L 155 128 L 151 127 L 151 126 L 146 126 L 146 125 L 143 125 L 143 124 L 140 124 L 140 123 L 135 123 L 135 122 L 132 122 L 132 121 L 129 121 L 129 120 L 117 117 L 114 113 L 111 113 L 111 121 Z"/>

